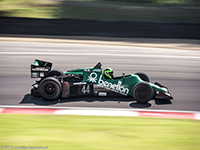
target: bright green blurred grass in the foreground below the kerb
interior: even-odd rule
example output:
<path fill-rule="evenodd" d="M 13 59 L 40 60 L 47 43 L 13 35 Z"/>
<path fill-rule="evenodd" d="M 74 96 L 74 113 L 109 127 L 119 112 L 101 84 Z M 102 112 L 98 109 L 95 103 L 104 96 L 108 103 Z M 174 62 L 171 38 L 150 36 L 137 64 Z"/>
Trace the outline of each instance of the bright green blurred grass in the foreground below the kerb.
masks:
<path fill-rule="evenodd" d="M 137 117 L 0 115 L 0 146 L 50 150 L 197 150 L 198 120 Z"/>

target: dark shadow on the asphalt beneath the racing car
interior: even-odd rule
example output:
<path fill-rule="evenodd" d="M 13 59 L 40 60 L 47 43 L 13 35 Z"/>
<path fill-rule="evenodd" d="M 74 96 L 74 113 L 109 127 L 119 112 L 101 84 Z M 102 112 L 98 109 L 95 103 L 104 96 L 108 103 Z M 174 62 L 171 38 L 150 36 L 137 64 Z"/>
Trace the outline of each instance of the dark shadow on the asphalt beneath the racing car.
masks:
<path fill-rule="evenodd" d="M 139 104 L 136 101 L 133 100 L 132 97 L 126 97 L 123 95 L 116 95 L 116 96 L 108 96 L 108 97 L 98 97 L 98 96 L 73 96 L 67 99 L 59 99 L 54 101 L 47 101 L 41 97 L 35 97 L 31 94 L 24 95 L 24 98 L 19 104 L 34 104 L 34 105 L 40 105 L 40 106 L 49 106 L 49 105 L 56 105 L 60 103 L 75 103 L 75 102 L 130 102 L 129 107 L 131 108 L 149 108 L 152 106 L 152 104 Z M 170 100 L 155 100 L 156 105 L 166 105 L 166 104 L 172 104 Z"/>

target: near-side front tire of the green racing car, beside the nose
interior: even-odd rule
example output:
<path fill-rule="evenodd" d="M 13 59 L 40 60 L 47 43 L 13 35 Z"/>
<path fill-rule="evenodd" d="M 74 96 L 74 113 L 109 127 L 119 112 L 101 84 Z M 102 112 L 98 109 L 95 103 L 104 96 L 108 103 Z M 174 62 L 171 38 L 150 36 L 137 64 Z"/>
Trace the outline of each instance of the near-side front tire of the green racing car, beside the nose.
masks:
<path fill-rule="evenodd" d="M 133 88 L 133 98 L 138 103 L 148 103 L 154 95 L 153 88 L 148 83 L 140 82 Z"/>

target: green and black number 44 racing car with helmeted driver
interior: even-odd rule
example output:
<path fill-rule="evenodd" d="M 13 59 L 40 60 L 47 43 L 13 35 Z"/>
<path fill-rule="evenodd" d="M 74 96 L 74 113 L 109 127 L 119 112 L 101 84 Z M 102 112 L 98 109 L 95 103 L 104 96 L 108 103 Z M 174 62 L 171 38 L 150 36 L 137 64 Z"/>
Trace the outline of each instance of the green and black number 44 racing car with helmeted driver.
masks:
<path fill-rule="evenodd" d="M 131 96 L 138 103 L 147 103 L 151 99 L 173 99 L 167 87 L 159 83 L 150 83 L 144 73 L 135 73 L 114 77 L 109 68 L 102 71 L 101 63 L 94 67 L 62 72 L 51 69 L 52 63 L 35 60 L 31 65 L 31 77 L 41 78 L 33 84 L 31 95 L 46 100 L 69 98 L 73 95 L 106 95 L 95 91 L 94 85 L 125 96 Z"/>

